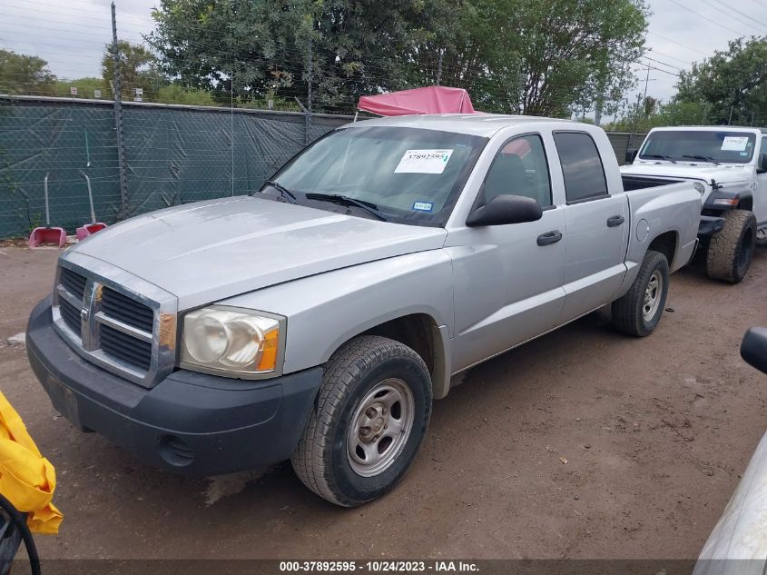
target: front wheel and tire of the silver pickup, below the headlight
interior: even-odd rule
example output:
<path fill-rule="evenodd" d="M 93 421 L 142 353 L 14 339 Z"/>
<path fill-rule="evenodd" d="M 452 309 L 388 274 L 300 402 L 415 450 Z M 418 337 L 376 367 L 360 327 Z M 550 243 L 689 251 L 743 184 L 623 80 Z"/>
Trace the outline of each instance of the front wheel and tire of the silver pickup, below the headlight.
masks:
<path fill-rule="evenodd" d="M 311 491 L 337 505 L 377 499 L 415 459 L 431 402 L 431 378 L 418 353 L 384 337 L 356 338 L 326 363 L 317 403 L 290 458 L 293 469 Z"/>

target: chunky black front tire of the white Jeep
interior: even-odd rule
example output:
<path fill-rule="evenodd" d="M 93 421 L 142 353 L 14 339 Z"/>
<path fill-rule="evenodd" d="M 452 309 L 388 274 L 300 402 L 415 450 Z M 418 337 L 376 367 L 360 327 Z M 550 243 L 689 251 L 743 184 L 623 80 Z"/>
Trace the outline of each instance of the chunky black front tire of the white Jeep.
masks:
<path fill-rule="evenodd" d="M 713 280 L 740 283 L 751 266 L 756 217 L 747 210 L 733 210 L 725 218 L 724 227 L 708 244 L 706 273 Z"/>

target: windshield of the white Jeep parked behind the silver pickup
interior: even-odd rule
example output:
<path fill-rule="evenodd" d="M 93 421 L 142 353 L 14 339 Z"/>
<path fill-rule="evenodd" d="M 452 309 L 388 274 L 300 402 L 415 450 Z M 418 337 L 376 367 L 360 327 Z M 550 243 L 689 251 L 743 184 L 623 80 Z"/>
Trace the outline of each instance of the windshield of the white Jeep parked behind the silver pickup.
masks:
<path fill-rule="evenodd" d="M 756 136 L 748 132 L 679 130 L 650 134 L 639 153 L 641 160 L 748 164 Z"/>

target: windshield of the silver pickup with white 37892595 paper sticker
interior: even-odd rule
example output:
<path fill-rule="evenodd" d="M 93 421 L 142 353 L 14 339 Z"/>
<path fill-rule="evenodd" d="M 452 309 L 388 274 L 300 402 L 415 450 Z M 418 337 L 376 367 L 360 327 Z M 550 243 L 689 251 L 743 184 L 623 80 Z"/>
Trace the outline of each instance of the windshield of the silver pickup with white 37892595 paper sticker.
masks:
<path fill-rule="evenodd" d="M 360 217 L 444 226 L 485 144 L 436 130 L 341 128 L 298 154 L 261 192 Z"/>

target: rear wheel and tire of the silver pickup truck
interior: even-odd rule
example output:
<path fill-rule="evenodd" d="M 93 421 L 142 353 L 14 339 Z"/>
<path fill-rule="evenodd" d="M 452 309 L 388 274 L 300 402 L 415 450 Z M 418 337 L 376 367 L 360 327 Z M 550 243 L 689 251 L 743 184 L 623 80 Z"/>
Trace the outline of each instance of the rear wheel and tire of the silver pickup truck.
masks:
<path fill-rule="evenodd" d="M 634 337 L 650 335 L 664 313 L 668 278 L 664 254 L 647 252 L 631 289 L 613 302 L 615 329 Z"/>

